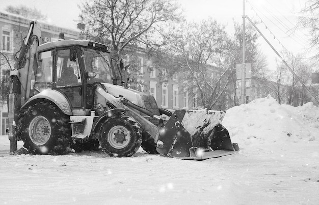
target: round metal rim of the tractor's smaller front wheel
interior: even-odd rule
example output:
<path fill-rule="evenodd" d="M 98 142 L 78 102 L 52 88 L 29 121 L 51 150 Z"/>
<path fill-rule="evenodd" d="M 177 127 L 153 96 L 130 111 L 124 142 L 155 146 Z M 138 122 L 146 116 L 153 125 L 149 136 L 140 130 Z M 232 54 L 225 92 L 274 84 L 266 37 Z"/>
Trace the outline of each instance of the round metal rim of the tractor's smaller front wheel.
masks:
<path fill-rule="evenodd" d="M 122 149 L 127 146 L 130 139 L 130 132 L 123 126 L 117 125 L 110 129 L 108 141 L 113 148 Z"/>

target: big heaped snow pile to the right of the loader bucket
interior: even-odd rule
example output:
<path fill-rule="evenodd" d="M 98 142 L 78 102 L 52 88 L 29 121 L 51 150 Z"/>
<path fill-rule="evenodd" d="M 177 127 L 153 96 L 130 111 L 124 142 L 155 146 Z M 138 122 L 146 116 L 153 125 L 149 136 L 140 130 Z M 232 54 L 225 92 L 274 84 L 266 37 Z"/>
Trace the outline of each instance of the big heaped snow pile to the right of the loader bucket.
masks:
<path fill-rule="evenodd" d="M 230 108 L 222 124 L 240 147 L 319 140 L 319 109 L 312 102 L 293 107 L 268 96 Z"/>

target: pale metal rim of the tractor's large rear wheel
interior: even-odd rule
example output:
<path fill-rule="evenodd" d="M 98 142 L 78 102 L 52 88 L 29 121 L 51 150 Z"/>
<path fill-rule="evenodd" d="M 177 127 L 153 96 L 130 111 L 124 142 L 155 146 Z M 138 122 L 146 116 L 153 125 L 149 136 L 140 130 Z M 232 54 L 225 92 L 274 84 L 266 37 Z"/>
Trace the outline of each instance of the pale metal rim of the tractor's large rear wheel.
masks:
<path fill-rule="evenodd" d="M 36 116 L 29 125 L 29 136 L 36 145 L 45 144 L 51 136 L 51 125 L 44 116 Z"/>

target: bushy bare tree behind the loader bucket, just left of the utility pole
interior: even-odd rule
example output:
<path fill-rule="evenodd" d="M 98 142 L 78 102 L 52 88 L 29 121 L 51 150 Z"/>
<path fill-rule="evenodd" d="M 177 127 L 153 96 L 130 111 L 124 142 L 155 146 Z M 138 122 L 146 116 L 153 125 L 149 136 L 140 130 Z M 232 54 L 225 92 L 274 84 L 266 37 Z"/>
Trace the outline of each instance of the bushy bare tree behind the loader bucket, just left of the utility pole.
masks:
<path fill-rule="evenodd" d="M 219 102 L 227 90 L 234 64 L 229 55 L 231 40 L 224 26 L 212 19 L 185 23 L 175 27 L 170 40 L 167 50 L 175 58 L 171 61 L 175 66 L 166 67 L 167 71 L 184 74 L 189 93 L 199 95 L 200 107 L 225 108 Z"/>

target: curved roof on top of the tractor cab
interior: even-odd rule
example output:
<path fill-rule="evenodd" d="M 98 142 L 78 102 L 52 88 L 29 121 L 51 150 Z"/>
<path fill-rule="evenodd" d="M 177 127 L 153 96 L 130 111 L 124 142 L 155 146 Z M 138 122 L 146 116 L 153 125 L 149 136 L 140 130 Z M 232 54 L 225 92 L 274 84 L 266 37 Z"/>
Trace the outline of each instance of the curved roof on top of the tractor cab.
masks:
<path fill-rule="evenodd" d="M 37 48 L 37 51 L 41 52 L 41 51 L 49 50 L 51 48 L 67 47 L 67 46 L 73 46 L 73 45 L 88 46 L 89 43 L 99 44 L 100 46 L 105 46 L 103 44 L 88 41 L 88 40 L 73 40 L 73 39 L 71 39 L 71 40 L 52 41 L 52 42 L 47 42 L 47 43 L 41 44 Z"/>

